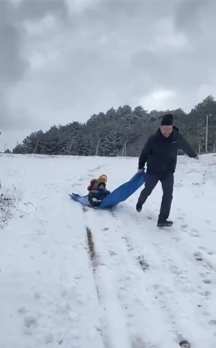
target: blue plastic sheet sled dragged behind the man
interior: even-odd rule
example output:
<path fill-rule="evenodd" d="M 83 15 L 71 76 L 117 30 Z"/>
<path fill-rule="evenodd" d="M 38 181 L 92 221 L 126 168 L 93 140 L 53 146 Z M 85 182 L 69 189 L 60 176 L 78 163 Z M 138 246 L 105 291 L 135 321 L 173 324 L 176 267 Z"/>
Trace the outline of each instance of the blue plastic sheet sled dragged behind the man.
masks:
<path fill-rule="evenodd" d="M 128 197 L 133 195 L 133 193 L 138 190 L 145 182 L 146 173 L 136 173 L 131 180 L 125 182 L 121 186 L 117 187 L 113 192 L 111 192 L 105 199 L 103 199 L 98 209 L 112 208 L 117 204 L 125 201 Z M 78 201 L 85 206 L 91 207 L 89 203 L 88 196 L 80 196 L 76 193 L 69 195 L 74 201 Z"/>

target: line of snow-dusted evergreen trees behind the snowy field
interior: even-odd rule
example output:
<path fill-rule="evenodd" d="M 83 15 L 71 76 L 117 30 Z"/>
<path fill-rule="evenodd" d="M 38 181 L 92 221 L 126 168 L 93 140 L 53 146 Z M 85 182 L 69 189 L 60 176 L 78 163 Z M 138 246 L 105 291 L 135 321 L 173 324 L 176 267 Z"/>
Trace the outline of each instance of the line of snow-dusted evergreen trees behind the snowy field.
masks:
<path fill-rule="evenodd" d="M 157 130 L 165 113 L 172 113 L 174 124 L 198 153 L 206 150 L 208 116 L 208 152 L 216 150 L 216 101 L 212 95 L 187 114 L 182 109 L 148 112 L 142 106 L 111 108 L 93 114 L 85 123 L 53 125 L 47 132 L 28 135 L 13 153 L 73 156 L 132 156 L 140 151 L 148 137 Z"/>

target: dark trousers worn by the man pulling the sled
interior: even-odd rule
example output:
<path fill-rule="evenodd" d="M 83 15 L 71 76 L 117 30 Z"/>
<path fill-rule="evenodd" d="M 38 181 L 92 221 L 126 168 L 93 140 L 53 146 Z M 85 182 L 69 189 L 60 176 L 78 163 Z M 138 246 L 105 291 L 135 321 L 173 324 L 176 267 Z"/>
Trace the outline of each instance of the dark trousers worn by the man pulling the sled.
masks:
<path fill-rule="evenodd" d="M 144 204 L 151 192 L 157 185 L 158 181 L 161 182 L 163 189 L 163 197 L 160 206 L 160 214 L 158 216 L 159 221 L 167 220 L 169 217 L 171 204 L 173 200 L 173 186 L 174 175 L 173 173 L 147 173 L 145 187 L 140 193 L 138 199 L 139 204 Z"/>

